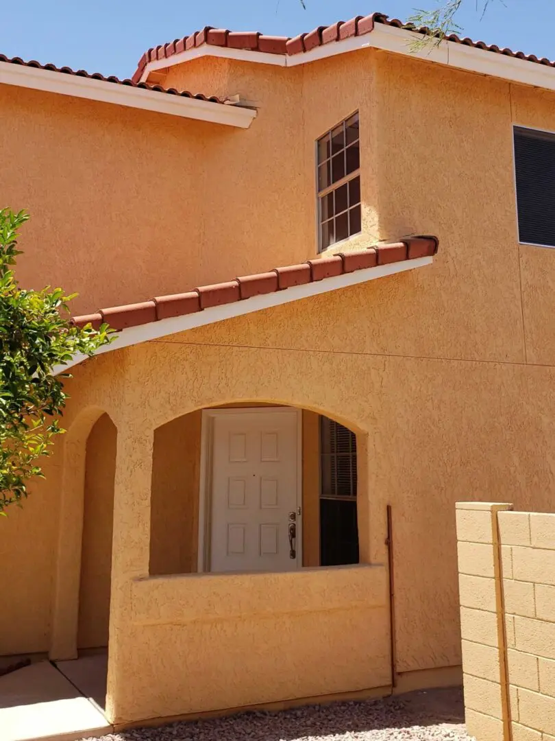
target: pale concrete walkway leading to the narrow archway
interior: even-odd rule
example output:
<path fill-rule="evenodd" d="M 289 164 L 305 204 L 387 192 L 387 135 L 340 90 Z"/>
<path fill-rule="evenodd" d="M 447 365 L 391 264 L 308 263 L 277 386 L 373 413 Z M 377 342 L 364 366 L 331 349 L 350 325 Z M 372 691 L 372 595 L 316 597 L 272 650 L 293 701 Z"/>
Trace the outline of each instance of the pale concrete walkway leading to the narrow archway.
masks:
<path fill-rule="evenodd" d="M 98 706 L 50 662 L 0 677 L 1 741 L 74 741 L 111 730 Z"/>

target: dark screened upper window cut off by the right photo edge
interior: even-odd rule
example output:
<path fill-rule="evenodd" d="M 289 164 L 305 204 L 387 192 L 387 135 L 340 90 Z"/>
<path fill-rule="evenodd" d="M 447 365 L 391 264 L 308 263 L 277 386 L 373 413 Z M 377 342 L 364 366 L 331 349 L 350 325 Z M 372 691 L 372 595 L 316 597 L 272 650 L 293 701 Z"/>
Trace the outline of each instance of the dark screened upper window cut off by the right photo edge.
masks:
<path fill-rule="evenodd" d="M 519 242 L 555 247 L 555 134 L 514 127 Z"/>

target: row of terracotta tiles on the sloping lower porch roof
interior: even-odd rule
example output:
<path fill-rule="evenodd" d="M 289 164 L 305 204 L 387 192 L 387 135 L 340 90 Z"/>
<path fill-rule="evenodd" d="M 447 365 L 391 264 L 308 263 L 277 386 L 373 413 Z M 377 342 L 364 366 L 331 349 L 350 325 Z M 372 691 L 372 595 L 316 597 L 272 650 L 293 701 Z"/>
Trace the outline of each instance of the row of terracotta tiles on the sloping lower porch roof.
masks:
<path fill-rule="evenodd" d="M 376 268 L 394 262 L 434 256 L 439 241 L 428 234 L 407 236 L 399 242 L 367 247 L 365 250 L 337 253 L 310 259 L 298 265 L 274 268 L 266 273 L 240 276 L 223 283 L 203 285 L 186 293 L 155 296 L 149 301 L 99 309 L 95 313 L 74 316 L 78 327 L 91 324 L 98 329 L 106 322 L 115 330 L 186 316 L 208 308 L 232 304 L 254 296 L 295 288 L 295 286 L 333 278 L 356 270 Z"/>

